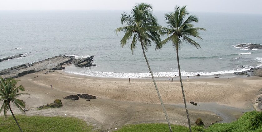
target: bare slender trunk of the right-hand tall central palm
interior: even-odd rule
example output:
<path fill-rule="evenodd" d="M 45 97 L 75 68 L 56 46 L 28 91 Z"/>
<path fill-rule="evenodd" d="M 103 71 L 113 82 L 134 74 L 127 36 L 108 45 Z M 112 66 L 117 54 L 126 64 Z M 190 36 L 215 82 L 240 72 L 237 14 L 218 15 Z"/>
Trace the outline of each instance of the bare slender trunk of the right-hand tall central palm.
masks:
<path fill-rule="evenodd" d="M 186 112 L 187 112 L 187 121 L 188 121 L 189 131 L 192 132 L 192 130 L 191 130 L 191 125 L 190 125 L 189 114 L 188 114 L 188 111 L 187 111 L 186 97 L 185 97 L 184 88 L 183 88 L 183 84 L 182 84 L 182 78 L 181 78 L 181 71 L 180 71 L 179 57 L 178 57 L 178 44 L 177 44 L 176 50 L 177 50 L 177 65 L 178 65 L 179 79 L 180 79 L 180 83 L 181 83 L 181 89 L 182 89 L 182 93 L 183 93 L 183 99 L 184 99 L 185 108 L 186 108 Z"/>

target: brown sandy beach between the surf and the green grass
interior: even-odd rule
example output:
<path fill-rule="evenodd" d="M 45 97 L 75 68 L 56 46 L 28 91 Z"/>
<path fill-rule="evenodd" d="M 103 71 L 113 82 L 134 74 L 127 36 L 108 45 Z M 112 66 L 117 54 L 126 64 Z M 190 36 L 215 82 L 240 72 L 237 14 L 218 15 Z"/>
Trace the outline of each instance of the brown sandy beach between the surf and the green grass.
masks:
<path fill-rule="evenodd" d="M 72 116 L 83 119 L 95 129 L 114 131 L 126 124 L 165 123 L 166 119 L 151 79 L 97 78 L 74 75 L 62 70 L 24 75 L 17 79 L 26 93 L 26 115 Z M 178 77 L 177 77 L 178 78 Z M 231 122 L 243 112 L 254 110 L 256 92 L 262 88 L 261 77 L 192 78 L 183 77 L 183 86 L 191 123 L 201 118 L 206 126 Z M 179 80 L 156 80 L 172 124 L 187 125 Z M 50 84 L 53 84 L 51 89 Z M 90 94 L 97 99 L 65 100 L 73 94 Z M 61 99 L 63 107 L 37 110 L 36 107 Z M 193 106 L 189 102 L 198 103 Z M 21 114 L 14 109 L 16 114 Z M 2 114 L 1 114 L 2 115 Z"/>

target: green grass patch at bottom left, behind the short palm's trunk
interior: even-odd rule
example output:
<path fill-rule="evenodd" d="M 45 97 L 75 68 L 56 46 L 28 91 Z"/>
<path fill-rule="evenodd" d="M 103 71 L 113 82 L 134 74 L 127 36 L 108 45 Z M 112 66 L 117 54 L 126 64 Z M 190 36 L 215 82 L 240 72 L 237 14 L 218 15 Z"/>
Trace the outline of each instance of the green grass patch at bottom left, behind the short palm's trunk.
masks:
<path fill-rule="evenodd" d="M 93 127 L 73 117 L 15 115 L 24 132 L 91 132 Z M 0 132 L 20 131 L 12 116 L 0 116 Z"/>

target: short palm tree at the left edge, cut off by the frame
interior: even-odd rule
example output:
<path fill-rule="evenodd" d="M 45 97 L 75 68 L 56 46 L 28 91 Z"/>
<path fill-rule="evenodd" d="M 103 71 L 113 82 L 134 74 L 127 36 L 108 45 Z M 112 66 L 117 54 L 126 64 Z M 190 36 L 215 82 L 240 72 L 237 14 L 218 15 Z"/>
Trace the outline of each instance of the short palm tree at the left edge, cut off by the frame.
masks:
<path fill-rule="evenodd" d="M 20 125 L 18 124 L 16 117 L 10 107 L 10 102 L 12 102 L 21 112 L 25 113 L 23 109 L 25 108 L 25 102 L 23 100 L 17 99 L 17 97 L 22 94 L 28 94 L 28 93 L 18 93 L 19 90 L 25 91 L 23 85 L 16 87 L 16 84 L 18 81 L 20 80 L 14 80 L 12 78 L 8 78 L 4 80 L 2 77 L 0 77 L 0 82 L 1 82 L 0 83 L 0 102 L 4 101 L 2 107 L 0 108 L 0 113 L 4 111 L 4 115 L 6 117 L 7 111 L 10 111 L 20 131 L 22 132 L 22 129 Z"/>

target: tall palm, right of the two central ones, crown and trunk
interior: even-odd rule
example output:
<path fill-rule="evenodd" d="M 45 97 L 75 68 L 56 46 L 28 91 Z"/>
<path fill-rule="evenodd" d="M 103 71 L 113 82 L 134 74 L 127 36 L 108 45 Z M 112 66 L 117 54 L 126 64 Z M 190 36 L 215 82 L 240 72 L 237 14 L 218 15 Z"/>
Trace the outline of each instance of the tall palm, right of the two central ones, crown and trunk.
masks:
<path fill-rule="evenodd" d="M 172 42 L 173 47 L 175 48 L 177 52 L 177 65 L 178 65 L 178 72 L 179 72 L 179 79 L 181 83 L 181 89 L 183 94 L 183 100 L 185 103 L 185 108 L 187 112 L 187 120 L 188 120 L 188 126 L 189 130 L 191 132 L 191 125 L 190 125 L 190 119 L 189 114 L 187 110 L 187 103 L 185 98 L 185 93 L 183 89 L 182 79 L 181 79 L 181 70 L 180 70 L 180 64 L 179 64 L 179 56 L 178 56 L 178 49 L 182 47 L 182 41 L 188 43 L 191 46 L 198 48 L 201 48 L 198 43 L 196 43 L 193 39 L 189 37 L 195 37 L 198 39 L 203 40 L 201 37 L 199 37 L 199 30 L 205 30 L 203 28 L 196 28 L 194 25 L 191 24 L 191 22 L 198 22 L 198 19 L 195 15 L 190 15 L 187 19 L 185 18 L 189 13 L 186 10 L 186 6 L 183 7 L 175 7 L 175 11 L 171 13 L 165 14 L 165 19 L 168 27 L 160 27 L 162 30 L 162 35 L 167 35 L 167 39 L 164 39 L 161 43 L 157 43 L 156 49 L 161 49 L 163 45 L 165 45 L 168 42 Z M 182 40 L 181 40 L 182 39 Z"/>

